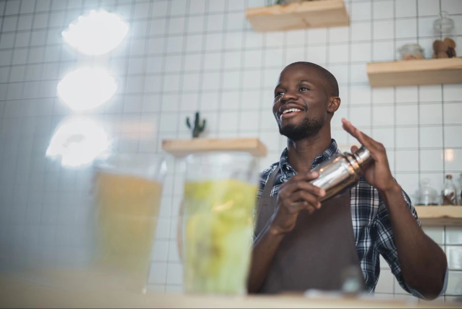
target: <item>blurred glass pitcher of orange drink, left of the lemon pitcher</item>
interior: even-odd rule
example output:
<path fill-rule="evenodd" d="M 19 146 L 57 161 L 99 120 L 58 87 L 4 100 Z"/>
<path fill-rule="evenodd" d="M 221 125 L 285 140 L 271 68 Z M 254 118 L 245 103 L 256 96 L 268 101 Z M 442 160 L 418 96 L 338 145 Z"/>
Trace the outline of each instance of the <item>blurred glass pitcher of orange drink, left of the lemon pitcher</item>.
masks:
<path fill-rule="evenodd" d="M 159 216 L 165 158 L 113 154 L 94 164 L 95 274 L 145 292 Z"/>

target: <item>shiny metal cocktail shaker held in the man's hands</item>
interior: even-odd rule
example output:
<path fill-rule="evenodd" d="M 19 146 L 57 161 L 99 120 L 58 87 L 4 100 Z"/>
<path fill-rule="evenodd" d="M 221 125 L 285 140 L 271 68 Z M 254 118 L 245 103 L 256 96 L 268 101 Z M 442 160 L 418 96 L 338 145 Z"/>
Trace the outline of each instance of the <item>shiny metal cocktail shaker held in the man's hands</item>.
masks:
<path fill-rule="evenodd" d="M 361 175 L 361 169 L 371 162 L 371 153 L 364 146 L 354 153 L 336 153 L 329 160 L 312 169 L 319 173 L 319 177 L 310 183 L 325 190 L 321 202 L 325 201 L 356 184 Z"/>

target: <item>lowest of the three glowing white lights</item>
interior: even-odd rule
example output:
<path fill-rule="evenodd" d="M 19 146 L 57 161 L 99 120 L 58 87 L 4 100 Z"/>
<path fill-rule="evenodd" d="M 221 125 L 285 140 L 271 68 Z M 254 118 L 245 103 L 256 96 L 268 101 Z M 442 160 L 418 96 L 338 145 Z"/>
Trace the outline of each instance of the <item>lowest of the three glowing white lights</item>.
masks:
<path fill-rule="evenodd" d="M 107 155 L 109 146 L 109 138 L 98 122 L 74 116 L 58 126 L 46 155 L 61 159 L 62 166 L 80 167 Z"/>

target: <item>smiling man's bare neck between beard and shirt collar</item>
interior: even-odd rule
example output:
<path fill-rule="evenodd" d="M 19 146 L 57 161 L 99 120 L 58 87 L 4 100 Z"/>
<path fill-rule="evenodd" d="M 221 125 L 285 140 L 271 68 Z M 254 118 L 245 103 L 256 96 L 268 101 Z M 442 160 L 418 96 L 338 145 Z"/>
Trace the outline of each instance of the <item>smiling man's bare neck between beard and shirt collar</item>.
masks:
<path fill-rule="evenodd" d="M 328 133 L 316 134 L 296 142 L 287 139 L 287 159 L 297 173 L 310 171 L 314 158 L 329 148 L 332 138 L 331 132 Z"/>

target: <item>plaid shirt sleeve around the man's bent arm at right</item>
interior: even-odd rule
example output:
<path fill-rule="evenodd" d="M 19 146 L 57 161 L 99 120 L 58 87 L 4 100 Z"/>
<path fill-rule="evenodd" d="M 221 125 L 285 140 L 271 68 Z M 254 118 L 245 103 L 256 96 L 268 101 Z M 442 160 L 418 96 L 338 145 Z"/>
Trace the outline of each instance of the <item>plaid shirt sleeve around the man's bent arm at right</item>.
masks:
<path fill-rule="evenodd" d="M 418 220 L 417 212 L 415 208 L 412 206 L 411 199 L 406 194 L 405 191 L 402 191 L 402 195 L 408 204 L 409 210 L 411 211 L 412 215 L 414 216 L 415 220 L 421 226 L 420 221 Z M 407 292 L 411 293 L 415 297 L 425 299 L 417 290 L 408 286 L 408 284 L 404 281 L 401 274 L 401 266 L 398 260 L 398 252 L 396 249 L 395 242 L 393 240 L 393 230 L 390 221 L 390 216 L 388 215 L 387 208 L 385 203 L 381 197 L 379 202 L 379 209 L 377 212 L 377 216 L 375 217 L 373 227 L 375 230 L 375 244 L 378 252 L 382 255 L 382 257 L 387 261 L 388 265 L 390 266 L 393 275 L 398 280 L 399 285 L 405 289 Z M 446 288 L 448 285 L 448 269 L 446 269 L 445 281 L 441 292 L 439 293 L 438 297 L 443 295 L 446 292 Z"/>

